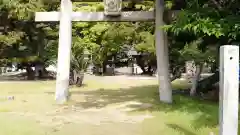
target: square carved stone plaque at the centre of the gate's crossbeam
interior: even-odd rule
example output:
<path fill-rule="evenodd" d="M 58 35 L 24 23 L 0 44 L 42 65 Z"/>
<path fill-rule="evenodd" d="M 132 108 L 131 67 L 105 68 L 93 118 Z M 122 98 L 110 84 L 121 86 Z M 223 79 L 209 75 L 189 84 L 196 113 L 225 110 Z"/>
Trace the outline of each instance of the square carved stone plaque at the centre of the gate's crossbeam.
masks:
<path fill-rule="evenodd" d="M 106 16 L 120 16 L 122 10 L 122 0 L 103 0 L 104 14 Z"/>

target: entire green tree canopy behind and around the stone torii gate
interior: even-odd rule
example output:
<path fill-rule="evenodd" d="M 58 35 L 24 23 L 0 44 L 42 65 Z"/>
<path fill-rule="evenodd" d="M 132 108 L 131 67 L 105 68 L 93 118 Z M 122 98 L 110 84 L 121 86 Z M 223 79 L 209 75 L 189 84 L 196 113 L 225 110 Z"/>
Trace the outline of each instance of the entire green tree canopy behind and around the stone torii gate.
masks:
<path fill-rule="evenodd" d="M 4 20 L 0 24 L 0 59 L 5 63 L 41 62 L 45 66 L 56 62 L 58 23 L 36 23 L 34 12 L 58 10 L 60 1 L 0 2 L 0 16 Z M 151 1 L 123 3 L 123 11 L 150 11 L 153 7 Z M 186 60 L 212 62 L 215 54 L 213 56 L 213 52 L 208 53 L 209 47 L 239 40 L 237 0 L 169 0 L 165 1 L 165 8 L 166 11 L 180 10 L 177 17 L 167 21 L 163 27 L 168 34 L 170 69 L 174 74 L 175 71 L 180 71 L 179 68 L 183 67 Z M 74 2 L 74 11 L 103 9 L 102 2 Z M 73 23 L 72 52 L 83 55 L 82 50 L 88 50 L 95 65 L 103 66 L 111 57 L 117 58 L 116 61 L 126 59 L 126 51 L 131 48 L 140 54 L 135 58 L 143 71 L 151 72 L 156 67 L 153 22 Z M 191 53 L 196 55 L 190 55 Z M 200 56 L 202 53 L 206 55 Z"/>

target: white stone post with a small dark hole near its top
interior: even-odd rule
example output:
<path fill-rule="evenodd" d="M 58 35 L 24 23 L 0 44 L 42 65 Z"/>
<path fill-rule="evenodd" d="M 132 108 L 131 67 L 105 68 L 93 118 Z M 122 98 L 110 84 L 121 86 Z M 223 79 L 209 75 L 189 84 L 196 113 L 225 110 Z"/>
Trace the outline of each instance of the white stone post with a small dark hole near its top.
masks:
<path fill-rule="evenodd" d="M 239 47 L 220 47 L 220 135 L 238 135 Z"/>

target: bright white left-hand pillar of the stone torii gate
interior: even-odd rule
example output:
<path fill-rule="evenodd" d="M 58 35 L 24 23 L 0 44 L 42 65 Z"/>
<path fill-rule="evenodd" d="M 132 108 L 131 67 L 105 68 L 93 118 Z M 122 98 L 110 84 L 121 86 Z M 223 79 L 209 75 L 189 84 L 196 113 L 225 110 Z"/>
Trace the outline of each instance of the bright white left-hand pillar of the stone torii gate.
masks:
<path fill-rule="evenodd" d="M 72 2 L 61 0 L 55 100 L 64 103 L 68 98 L 70 56 L 72 45 Z"/>

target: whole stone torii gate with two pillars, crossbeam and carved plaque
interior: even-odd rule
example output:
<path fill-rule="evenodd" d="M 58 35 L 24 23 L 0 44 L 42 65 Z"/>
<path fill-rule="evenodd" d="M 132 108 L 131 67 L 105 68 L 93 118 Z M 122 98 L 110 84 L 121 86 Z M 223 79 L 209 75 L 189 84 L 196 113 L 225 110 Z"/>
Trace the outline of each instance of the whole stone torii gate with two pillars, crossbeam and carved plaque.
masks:
<path fill-rule="evenodd" d="M 81 22 L 136 22 L 155 20 L 156 54 L 160 100 L 172 102 L 172 90 L 169 81 L 168 45 L 166 35 L 160 26 L 164 25 L 164 0 L 155 1 L 154 11 L 121 12 L 121 0 L 104 0 L 104 12 L 72 12 L 72 1 L 61 0 L 60 12 L 36 12 L 35 21 L 59 21 L 59 46 L 55 99 L 58 103 L 67 101 L 70 72 L 70 53 L 72 43 L 72 21 Z"/>

